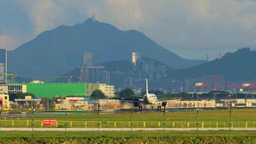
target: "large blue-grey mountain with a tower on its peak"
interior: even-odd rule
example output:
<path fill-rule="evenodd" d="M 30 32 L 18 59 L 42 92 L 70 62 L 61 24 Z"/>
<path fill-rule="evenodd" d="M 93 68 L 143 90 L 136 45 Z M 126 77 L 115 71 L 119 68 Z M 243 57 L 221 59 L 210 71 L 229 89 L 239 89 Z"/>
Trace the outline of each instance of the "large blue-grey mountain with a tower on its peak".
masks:
<path fill-rule="evenodd" d="M 91 52 L 94 63 L 128 59 L 132 52 L 178 69 L 202 63 L 187 60 L 156 44 L 136 30 L 118 28 L 88 18 L 82 24 L 59 26 L 9 51 L 9 70 L 21 76 L 60 75 L 79 67 L 82 53 Z"/>

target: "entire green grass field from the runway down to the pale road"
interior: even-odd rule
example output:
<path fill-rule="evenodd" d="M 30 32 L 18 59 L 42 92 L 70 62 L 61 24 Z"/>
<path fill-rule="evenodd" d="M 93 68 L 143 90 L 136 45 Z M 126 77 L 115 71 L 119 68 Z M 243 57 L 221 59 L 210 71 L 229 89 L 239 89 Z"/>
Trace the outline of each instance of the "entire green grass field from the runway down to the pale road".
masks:
<path fill-rule="evenodd" d="M 2 126 L 30 126 L 32 124 L 32 115 L 27 117 L 4 117 L 0 118 Z M 181 112 L 144 112 L 144 113 L 86 113 L 86 112 L 68 112 L 62 113 L 35 113 L 34 120 L 36 126 L 42 126 L 43 119 L 56 119 L 58 126 L 64 126 L 67 121 L 68 127 L 95 127 L 98 120 L 103 127 L 129 126 L 132 121 L 133 126 L 137 127 L 155 127 L 162 126 L 167 122 L 167 127 L 195 127 L 197 121 L 197 111 Z M 12 122 L 14 120 L 14 122 Z M 29 120 L 29 122 L 27 122 Z M 231 117 L 229 110 L 199 110 L 199 125 L 207 127 L 229 127 L 229 120 L 233 122 L 233 127 L 256 127 L 256 109 L 232 109 Z M 70 122 L 72 121 L 72 123 Z M 94 122 L 91 122 L 94 121 Z M 85 123 L 86 122 L 86 123 Z"/>

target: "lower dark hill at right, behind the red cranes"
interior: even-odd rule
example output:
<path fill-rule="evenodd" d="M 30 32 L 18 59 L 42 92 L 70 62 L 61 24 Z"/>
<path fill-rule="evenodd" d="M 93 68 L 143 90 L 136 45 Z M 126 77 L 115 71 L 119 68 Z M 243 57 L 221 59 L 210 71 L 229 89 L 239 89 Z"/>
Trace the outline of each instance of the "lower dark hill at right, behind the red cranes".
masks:
<path fill-rule="evenodd" d="M 256 51 L 250 48 L 242 48 L 234 53 L 226 53 L 221 59 L 175 70 L 169 73 L 169 77 L 183 79 L 220 74 L 229 81 L 250 81 L 256 79 L 255 62 Z"/>

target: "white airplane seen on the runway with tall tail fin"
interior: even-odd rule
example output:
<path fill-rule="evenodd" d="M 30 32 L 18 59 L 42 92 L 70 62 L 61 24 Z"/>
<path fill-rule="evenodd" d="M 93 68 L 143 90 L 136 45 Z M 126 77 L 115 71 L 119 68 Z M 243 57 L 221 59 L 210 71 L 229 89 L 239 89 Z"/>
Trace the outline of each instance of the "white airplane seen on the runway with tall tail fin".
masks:
<path fill-rule="evenodd" d="M 126 101 L 133 101 L 134 107 L 138 107 L 138 109 L 142 109 L 142 104 L 146 104 L 146 105 L 154 105 L 154 104 L 158 104 L 161 106 L 163 106 L 165 108 L 165 106 L 167 105 L 167 101 L 168 100 L 180 100 L 180 99 L 158 99 L 158 97 L 161 96 L 156 96 L 154 93 L 149 93 L 148 92 L 148 84 L 147 84 L 147 79 L 146 79 L 146 94 L 144 96 L 131 96 L 134 97 L 134 99 L 125 99 L 125 98 L 121 98 L 120 100 L 126 100 Z M 161 106 L 157 106 L 157 108 L 161 108 Z"/>

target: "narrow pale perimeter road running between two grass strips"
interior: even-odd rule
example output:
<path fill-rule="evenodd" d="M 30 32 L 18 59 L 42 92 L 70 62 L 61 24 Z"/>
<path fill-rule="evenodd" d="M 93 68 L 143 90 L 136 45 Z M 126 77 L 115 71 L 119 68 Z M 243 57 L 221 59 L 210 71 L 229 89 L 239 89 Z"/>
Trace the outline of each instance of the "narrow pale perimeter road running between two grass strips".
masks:
<path fill-rule="evenodd" d="M 1 128 L 1 131 L 31 131 L 32 128 Z M 100 131 L 130 131 L 131 128 L 99 128 Z M 164 128 L 132 128 L 132 131 L 162 131 Z M 165 128 L 166 131 L 191 131 L 197 128 Z M 229 130 L 229 128 L 199 128 L 199 130 Z M 231 128 L 231 130 L 256 131 L 256 128 Z M 65 131 L 65 128 L 34 128 L 34 131 Z M 98 128 L 67 128 L 67 131 L 98 131 Z"/>

